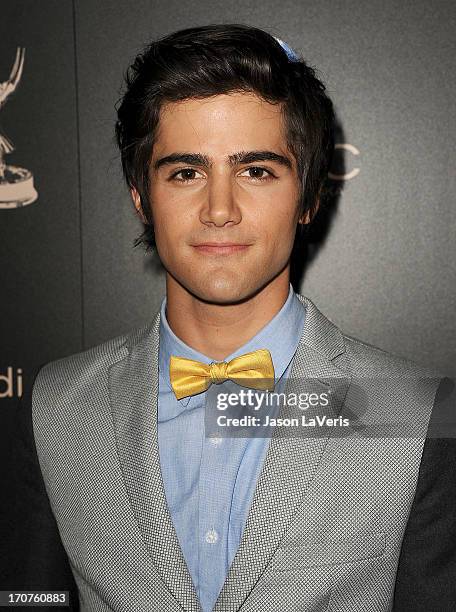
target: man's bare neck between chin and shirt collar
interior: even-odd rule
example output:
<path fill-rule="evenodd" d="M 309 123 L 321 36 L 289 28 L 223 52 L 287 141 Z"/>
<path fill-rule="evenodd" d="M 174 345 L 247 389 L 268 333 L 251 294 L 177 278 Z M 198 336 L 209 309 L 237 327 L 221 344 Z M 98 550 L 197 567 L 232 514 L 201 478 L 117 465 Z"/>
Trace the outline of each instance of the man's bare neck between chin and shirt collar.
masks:
<path fill-rule="evenodd" d="M 167 274 L 168 325 L 195 350 L 223 361 L 279 312 L 288 297 L 289 279 L 287 267 L 251 298 L 237 304 L 212 304 L 201 301 Z"/>

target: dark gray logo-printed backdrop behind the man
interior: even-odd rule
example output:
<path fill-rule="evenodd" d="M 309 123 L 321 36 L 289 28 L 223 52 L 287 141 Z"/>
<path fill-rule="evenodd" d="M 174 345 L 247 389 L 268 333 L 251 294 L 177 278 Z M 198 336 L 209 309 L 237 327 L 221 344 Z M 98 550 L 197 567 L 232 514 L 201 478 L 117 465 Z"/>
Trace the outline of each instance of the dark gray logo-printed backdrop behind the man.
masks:
<path fill-rule="evenodd" d="M 424 0 L 0 0 L 2 435 L 39 365 L 155 314 L 164 273 L 133 248 L 114 106 L 145 44 L 208 23 L 286 41 L 336 107 L 334 206 L 295 289 L 346 333 L 454 376 L 455 17 Z"/>

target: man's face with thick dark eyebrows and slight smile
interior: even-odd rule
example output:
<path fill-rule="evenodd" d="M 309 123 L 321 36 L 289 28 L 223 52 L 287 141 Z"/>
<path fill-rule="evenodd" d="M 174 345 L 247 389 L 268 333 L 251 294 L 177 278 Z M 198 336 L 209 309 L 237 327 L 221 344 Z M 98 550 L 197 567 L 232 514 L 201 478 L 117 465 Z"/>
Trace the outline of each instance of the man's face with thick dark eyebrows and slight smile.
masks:
<path fill-rule="evenodd" d="M 250 93 L 164 105 L 149 178 L 160 259 L 199 299 L 248 298 L 289 265 L 299 180 L 278 105 Z"/>

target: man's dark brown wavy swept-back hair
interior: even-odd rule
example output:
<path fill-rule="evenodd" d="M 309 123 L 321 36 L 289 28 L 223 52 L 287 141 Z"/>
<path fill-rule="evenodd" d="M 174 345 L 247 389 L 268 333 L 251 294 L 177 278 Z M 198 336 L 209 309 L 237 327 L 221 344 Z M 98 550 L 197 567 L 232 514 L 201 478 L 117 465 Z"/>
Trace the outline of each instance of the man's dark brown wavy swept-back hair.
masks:
<path fill-rule="evenodd" d="M 125 73 L 115 136 L 129 188 L 147 221 L 135 246 L 155 246 L 148 169 L 166 102 L 231 92 L 281 104 L 287 144 L 301 177 L 300 214 L 312 219 L 334 150 L 334 110 L 314 68 L 271 34 L 246 25 L 207 25 L 151 42 Z"/>

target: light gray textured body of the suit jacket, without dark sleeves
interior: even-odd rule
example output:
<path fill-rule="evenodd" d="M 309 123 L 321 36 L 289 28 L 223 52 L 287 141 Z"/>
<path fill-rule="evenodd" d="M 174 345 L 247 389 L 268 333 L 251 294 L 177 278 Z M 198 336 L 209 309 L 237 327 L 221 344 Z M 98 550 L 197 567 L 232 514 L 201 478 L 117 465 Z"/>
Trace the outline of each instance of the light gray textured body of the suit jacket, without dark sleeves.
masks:
<path fill-rule="evenodd" d="M 290 438 L 277 428 L 214 610 L 386 612 L 439 377 L 343 335 L 298 297 L 307 316 L 293 391 L 318 379 L 337 413 L 360 408 L 364 424 L 412 416 L 414 433 Z M 47 364 L 33 387 L 38 459 L 84 611 L 200 610 L 160 472 L 158 331 L 159 313 Z M 347 408 L 361 379 L 363 401 L 355 393 Z"/>

